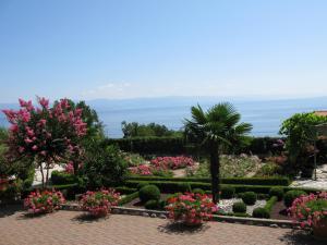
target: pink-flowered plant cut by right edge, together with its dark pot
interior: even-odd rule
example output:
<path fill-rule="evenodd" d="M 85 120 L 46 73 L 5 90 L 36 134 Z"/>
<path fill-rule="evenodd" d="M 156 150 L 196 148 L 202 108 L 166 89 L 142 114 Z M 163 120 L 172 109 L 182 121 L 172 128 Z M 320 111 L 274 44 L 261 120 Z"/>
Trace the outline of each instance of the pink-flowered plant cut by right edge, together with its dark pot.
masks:
<path fill-rule="evenodd" d="M 300 196 L 289 213 L 302 228 L 312 228 L 315 237 L 327 240 L 327 192 Z"/>

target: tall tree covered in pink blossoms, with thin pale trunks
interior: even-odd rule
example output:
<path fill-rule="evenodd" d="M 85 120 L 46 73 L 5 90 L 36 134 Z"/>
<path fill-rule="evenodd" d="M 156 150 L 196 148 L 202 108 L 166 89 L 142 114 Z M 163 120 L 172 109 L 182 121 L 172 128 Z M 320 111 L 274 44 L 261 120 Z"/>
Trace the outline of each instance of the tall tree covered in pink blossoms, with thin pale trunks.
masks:
<path fill-rule="evenodd" d="M 8 138 L 8 157 L 11 161 L 29 159 L 40 168 L 43 186 L 48 182 L 49 167 L 76 150 L 86 134 L 82 109 L 74 109 L 68 99 L 61 99 L 51 108 L 49 100 L 38 98 L 39 107 L 20 99 L 20 110 L 3 110 L 11 126 Z M 46 176 L 44 172 L 46 164 Z"/>

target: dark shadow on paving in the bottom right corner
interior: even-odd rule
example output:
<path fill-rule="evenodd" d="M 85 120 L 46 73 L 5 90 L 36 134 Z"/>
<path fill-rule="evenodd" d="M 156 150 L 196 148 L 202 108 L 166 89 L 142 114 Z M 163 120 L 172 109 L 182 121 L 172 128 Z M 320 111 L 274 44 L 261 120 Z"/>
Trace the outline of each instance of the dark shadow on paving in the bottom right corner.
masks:
<path fill-rule="evenodd" d="M 307 231 L 291 231 L 286 233 L 280 241 L 289 245 L 326 245 L 326 241 L 315 240 Z"/>

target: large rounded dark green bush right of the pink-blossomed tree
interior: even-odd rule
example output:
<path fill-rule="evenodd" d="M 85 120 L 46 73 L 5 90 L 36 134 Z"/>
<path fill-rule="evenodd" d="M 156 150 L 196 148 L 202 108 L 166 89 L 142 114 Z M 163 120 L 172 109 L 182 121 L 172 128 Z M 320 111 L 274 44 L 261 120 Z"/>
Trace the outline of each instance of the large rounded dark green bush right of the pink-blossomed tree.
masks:
<path fill-rule="evenodd" d="M 126 175 L 128 162 L 121 157 L 118 147 L 101 147 L 94 144 L 86 151 L 83 174 L 88 188 L 114 186 Z"/>

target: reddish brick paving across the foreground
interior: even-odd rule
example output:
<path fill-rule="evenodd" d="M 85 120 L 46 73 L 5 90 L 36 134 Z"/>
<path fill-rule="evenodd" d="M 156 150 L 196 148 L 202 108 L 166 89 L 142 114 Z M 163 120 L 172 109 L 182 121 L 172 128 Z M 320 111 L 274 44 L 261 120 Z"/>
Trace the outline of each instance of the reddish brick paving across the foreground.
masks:
<path fill-rule="evenodd" d="M 1 213 L 0 213 L 1 215 Z M 0 216 L 0 245 L 278 245 L 323 244 L 290 229 L 208 222 L 201 229 L 168 220 L 112 215 L 92 220 L 77 211 L 28 218 L 22 211 Z"/>

